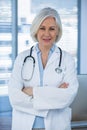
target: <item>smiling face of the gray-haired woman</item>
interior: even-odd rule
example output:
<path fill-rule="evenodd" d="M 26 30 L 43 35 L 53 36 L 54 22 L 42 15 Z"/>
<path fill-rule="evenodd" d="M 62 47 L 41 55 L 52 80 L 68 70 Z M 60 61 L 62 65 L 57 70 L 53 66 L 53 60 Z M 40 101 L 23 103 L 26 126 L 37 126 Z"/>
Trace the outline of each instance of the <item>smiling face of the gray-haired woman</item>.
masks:
<path fill-rule="evenodd" d="M 37 32 L 37 40 L 40 46 L 51 47 L 58 35 L 58 26 L 53 17 L 46 18 L 40 25 Z"/>

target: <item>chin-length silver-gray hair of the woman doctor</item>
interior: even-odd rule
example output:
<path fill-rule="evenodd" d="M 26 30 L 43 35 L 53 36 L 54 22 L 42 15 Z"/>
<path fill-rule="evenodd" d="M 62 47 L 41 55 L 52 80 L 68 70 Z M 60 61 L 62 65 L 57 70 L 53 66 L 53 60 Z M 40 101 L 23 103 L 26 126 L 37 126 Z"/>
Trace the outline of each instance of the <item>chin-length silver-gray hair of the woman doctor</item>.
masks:
<path fill-rule="evenodd" d="M 62 36 L 62 24 L 61 24 L 61 20 L 60 20 L 60 16 L 58 14 L 58 12 L 55 9 L 52 9 L 50 7 L 44 8 L 42 9 L 39 14 L 34 18 L 31 28 L 30 28 L 30 34 L 32 39 L 37 42 L 37 32 L 38 29 L 41 25 L 41 23 L 47 18 L 52 16 L 53 18 L 55 18 L 56 23 L 58 25 L 58 36 L 55 40 L 55 42 L 58 42 Z"/>

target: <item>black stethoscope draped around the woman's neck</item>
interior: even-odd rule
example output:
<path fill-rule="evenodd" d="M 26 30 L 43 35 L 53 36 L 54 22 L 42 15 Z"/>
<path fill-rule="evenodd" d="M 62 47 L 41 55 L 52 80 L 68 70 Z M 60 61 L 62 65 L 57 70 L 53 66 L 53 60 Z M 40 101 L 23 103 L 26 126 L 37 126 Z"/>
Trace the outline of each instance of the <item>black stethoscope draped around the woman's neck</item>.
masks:
<path fill-rule="evenodd" d="M 61 62 L 62 62 L 62 50 L 60 47 L 60 58 L 59 58 L 59 63 L 57 68 L 55 68 L 55 71 L 60 74 L 62 73 L 62 68 L 61 68 Z M 25 81 L 30 81 L 33 77 L 34 69 L 35 69 L 35 58 L 32 56 L 32 51 L 33 51 L 33 46 L 30 49 L 30 55 L 26 56 L 23 61 L 22 69 L 21 69 L 21 77 Z M 29 71 L 28 73 L 26 73 Z"/>

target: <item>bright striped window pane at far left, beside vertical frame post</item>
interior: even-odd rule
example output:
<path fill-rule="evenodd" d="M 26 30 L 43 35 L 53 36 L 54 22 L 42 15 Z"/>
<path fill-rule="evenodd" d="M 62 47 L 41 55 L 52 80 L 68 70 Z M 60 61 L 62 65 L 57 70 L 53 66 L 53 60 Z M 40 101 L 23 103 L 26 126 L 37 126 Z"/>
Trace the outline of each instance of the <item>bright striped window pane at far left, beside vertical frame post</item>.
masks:
<path fill-rule="evenodd" d="M 11 1 L 0 0 L 0 89 L 7 88 L 12 70 L 11 30 Z M 0 94 L 3 91 L 0 91 Z"/>

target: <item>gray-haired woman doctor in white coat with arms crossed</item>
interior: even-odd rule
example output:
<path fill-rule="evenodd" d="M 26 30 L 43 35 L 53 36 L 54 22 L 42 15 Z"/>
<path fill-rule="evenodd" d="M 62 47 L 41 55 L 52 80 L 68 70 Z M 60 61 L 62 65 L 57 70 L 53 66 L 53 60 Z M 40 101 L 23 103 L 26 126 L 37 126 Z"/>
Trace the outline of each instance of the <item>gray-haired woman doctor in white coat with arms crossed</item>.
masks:
<path fill-rule="evenodd" d="M 42 9 L 30 33 L 37 44 L 17 56 L 9 81 L 12 130 L 71 130 L 78 81 L 74 59 L 55 44 L 62 36 L 57 11 Z"/>

